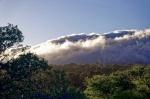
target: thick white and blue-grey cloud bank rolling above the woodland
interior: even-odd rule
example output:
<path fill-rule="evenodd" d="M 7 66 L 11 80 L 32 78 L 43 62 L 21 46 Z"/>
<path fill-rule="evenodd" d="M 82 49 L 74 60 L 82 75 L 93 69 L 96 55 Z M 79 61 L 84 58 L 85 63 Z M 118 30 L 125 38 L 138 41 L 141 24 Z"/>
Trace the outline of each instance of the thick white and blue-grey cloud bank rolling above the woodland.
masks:
<path fill-rule="evenodd" d="M 150 64 L 150 29 L 72 34 L 32 46 L 49 64 Z"/>

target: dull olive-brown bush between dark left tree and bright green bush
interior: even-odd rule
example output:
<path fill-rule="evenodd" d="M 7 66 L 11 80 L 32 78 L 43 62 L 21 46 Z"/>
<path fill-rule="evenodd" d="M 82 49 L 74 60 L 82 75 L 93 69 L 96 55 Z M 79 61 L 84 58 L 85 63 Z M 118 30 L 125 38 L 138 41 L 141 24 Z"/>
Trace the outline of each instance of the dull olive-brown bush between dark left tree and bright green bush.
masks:
<path fill-rule="evenodd" d="M 47 68 L 33 75 L 32 81 L 36 93 L 44 94 L 50 99 L 83 99 L 84 97 L 79 89 L 70 85 L 64 71 Z"/>

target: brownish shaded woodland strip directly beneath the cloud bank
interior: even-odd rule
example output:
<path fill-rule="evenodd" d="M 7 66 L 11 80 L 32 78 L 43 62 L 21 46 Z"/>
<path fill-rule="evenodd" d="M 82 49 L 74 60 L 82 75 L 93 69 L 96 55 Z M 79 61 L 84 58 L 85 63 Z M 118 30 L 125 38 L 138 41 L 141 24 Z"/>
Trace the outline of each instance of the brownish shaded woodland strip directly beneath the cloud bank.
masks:
<path fill-rule="evenodd" d="M 119 65 L 107 65 L 102 64 L 65 64 L 65 65 L 54 65 L 57 70 L 64 70 L 70 81 L 71 85 L 85 90 L 86 84 L 85 79 L 91 78 L 93 75 L 110 74 L 117 70 L 125 70 L 129 66 L 119 66 Z"/>

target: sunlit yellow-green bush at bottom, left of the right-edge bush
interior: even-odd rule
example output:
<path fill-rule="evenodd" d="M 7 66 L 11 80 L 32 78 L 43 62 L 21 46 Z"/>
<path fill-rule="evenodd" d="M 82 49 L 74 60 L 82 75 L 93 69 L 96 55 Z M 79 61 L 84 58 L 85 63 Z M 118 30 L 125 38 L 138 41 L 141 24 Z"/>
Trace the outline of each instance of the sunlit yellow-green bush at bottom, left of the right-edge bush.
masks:
<path fill-rule="evenodd" d="M 125 76 L 94 76 L 87 80 L 88 86 L 85 90 L 85 94 L 93 98 L 104 98 L 108 99 L 112 97 L 114 93 L 118 93 L 124 90 L 132 89 L 134 86 L 131 81 Z"/>

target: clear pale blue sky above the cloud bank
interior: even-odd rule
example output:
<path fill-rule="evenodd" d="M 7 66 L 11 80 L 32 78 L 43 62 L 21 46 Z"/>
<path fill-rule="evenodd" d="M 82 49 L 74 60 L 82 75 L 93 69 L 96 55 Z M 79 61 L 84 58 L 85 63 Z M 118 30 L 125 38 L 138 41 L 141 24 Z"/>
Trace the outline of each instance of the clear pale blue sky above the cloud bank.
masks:
<path fill-rule="evenodd" d="M 150 28 L 150 0 L 0 0 L 0 26 L 18 25 L 24 44 L 73 33 Z"/>

